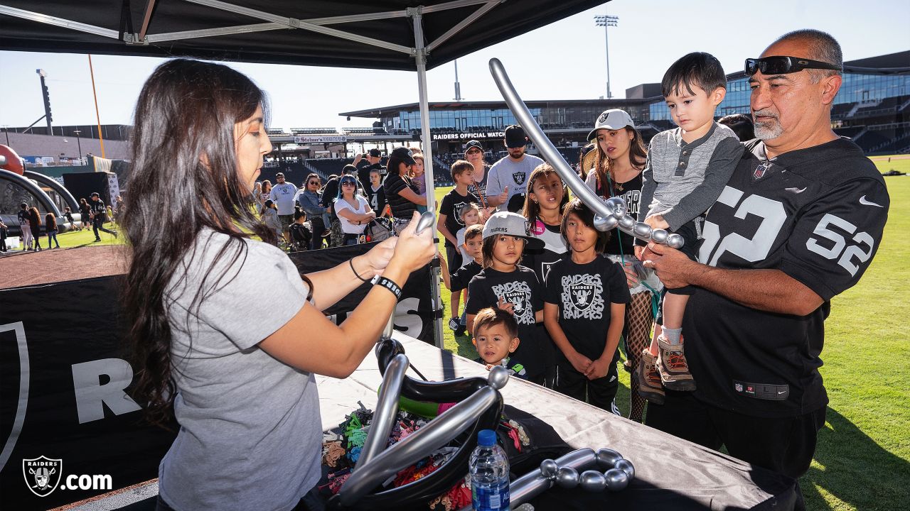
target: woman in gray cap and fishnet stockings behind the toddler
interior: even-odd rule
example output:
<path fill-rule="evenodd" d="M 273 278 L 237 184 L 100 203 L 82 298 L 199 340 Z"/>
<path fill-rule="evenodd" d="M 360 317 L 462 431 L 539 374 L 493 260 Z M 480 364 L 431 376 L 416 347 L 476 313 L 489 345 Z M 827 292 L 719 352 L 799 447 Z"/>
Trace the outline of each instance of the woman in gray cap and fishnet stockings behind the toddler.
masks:
<path fill-rule="evenodd" d="M 604 199 L 622 197 L 626 201 L 629 215 L 638 217 L 642 191 L 642 170 L 648 153 L 642 141 L 642 134 L 635 129 L 632 117 L 620 109 L 603 112 L 594 129 L 588 134 L 589 140 L 597 145 L 593 172 L 588 174 L 586 184 L 594 193 Z M 635 259 L 631 235 L 613 230 L 604 255 L 622 265 L 626 272 L 632 302 L 626 307 L 625 333 L 628 368 L 638 366 L 642 350 L 651 344 L 651 328 L 654 319 L 653 300 L 662 289 L 660 280 L 652 270 L 645 269 Z M 642 278 L 645 277 L 645 278 Z M 645 400 L 638 394 L 638 384 L 630 386 L 629 418 L 642 422 Z"/>

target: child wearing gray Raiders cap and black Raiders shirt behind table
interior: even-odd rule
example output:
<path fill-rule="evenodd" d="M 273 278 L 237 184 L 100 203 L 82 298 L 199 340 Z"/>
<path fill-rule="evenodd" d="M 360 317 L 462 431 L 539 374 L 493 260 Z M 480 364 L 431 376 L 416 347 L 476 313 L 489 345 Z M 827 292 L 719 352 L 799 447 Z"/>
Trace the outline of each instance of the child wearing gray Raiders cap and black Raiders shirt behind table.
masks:
<path fill-rule="evenodd" d="M 483 226 L 484 268 L 468 285 L 465 312 L 471 333 L 474 316 L 482 308 L 497 307 L 515 316 L 521 339 L 515 356 L 525 365 L 528 379 L 541 384 L 546 364 L 541 347 L 546 332 L 538 325 L 543 320 L 543 289 L 531 268 L 518 264 L 525 245 L 536 248 L 543 244 L 529 230 L 528 221 L 516 213 L 490 216 Z"/>

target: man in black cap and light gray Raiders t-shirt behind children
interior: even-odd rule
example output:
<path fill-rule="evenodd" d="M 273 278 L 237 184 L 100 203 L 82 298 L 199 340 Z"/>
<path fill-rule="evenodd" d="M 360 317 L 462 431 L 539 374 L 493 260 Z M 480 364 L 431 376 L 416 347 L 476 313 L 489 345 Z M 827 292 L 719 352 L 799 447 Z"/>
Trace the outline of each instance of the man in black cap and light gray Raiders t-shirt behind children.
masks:
<path fill-rule="evenodd" d="M 505 145 L 509 155 L 493 164 L 487 180 L 487 201 L 496 206 L 498 211 L 521 211 L 524 206 L 524 195 L 527 193 L 528 176 L 543 160 L 537 156 L 526 155 L 525 145 L 528 137 L 520 125 L 506 128 Z M 517 198 L 516 198 L 517 197 Z"/>

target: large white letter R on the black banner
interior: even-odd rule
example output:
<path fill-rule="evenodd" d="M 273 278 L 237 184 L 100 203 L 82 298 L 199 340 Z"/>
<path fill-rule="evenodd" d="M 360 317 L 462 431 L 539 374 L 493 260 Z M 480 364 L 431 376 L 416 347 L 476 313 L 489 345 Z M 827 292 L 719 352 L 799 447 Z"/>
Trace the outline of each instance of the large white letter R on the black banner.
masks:
<path fill-rule="evenodd" d="M 99 376 L 109 381 L 101 384 Z M 116 415 L 136 412 L 142 407 L 126 395 L 124 389 L 133 382 L 133 368 L 120 358 L 103 358 L 73 364 L 73 386 L 76 388 L 76 411 L 79 424 L 105 418 L 104 406 Z"/>

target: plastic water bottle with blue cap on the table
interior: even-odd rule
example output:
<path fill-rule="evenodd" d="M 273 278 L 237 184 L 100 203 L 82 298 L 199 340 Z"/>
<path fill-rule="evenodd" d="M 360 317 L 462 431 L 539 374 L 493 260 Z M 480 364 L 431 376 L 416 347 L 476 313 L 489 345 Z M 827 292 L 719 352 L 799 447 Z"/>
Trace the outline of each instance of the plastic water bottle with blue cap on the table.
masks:
<path fill-rule="evenodd" d="M 496 443 L 496 432 L 482 429 L 470 454 L 470 496 L 474 509 L 509 509 L 509 458 Z"/>

